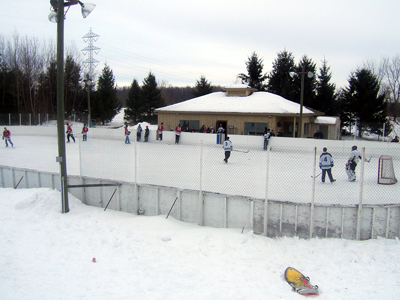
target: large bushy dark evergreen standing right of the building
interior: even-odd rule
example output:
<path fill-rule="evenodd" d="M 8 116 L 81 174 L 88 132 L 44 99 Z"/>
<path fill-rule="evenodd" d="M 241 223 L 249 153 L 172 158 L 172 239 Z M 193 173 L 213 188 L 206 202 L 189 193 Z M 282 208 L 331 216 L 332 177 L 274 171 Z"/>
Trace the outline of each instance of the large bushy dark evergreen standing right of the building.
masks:
<path fill-rule="evenodd" d="M 390 132 L 391 126 L 386 118 L 387 102 L 385 94 L 379 94 L 380 85 L 376 75 L 368 69 L 361 69 L 353 73 L 348 82 L 345 98 L 356 118 L 359 137 L 364 131 L 381 135 L 384 124 L 385 132 Z"/>

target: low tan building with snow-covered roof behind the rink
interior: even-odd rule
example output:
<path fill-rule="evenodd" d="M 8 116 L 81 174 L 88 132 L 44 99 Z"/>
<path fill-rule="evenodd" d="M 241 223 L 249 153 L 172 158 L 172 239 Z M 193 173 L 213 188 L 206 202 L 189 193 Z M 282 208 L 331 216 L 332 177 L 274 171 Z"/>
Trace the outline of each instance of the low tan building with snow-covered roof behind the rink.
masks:
<path fill-rule="evenodd" d="M 195 131 L 204 125 L 215 130 L 222 124 L 227 134 L 262 135 L 265 128 L 285 137 L 296 137 L 300 121 L 300 104 L 281 96 L 258 92 L 243 84 L 225 87 L 225 92 L 161 107 L 155 110 L 158 123 L 166 130 L 178 124 L 182 130 Z M 340 119 L 325 117 L 324 113 L 303 107 L 302 137 L 313 137 L 320 130 L 326 139 L 340 139 Z"/>

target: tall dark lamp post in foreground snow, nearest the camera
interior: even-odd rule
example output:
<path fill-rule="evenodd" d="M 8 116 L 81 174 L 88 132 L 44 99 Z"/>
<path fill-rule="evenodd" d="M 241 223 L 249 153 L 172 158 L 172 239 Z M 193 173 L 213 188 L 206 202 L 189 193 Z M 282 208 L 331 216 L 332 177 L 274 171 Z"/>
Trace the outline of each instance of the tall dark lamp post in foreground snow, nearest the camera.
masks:
<path fill-rule="evenodd" d="M 68 176 L 67 158 L 65 151 L 64 136 L 64 6 L 78 4 L 82 8 L 82 16 L 86 18 L 94 9 L 94 4 L 84 4 L 81 1 L 50 0 L 51 12 L 49 20 L 57 23 L 57 138 L 58 156 L 56 161 L 60 163 L 60 189 L 61 189 L 61 211 L 69 212 L 68 204 Z"/>

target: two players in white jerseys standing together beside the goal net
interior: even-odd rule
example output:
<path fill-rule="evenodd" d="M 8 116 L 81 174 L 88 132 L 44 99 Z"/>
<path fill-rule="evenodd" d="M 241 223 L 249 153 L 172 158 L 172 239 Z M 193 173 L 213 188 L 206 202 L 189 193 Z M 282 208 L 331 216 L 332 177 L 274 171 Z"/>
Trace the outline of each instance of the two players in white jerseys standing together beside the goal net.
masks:
<path fill-rule="evenodd" d="M 322 170 L 321 181 L 325 182 L 326 174 L 328 174 L 329 180 L 331 182 L 335 182 L 336 179 L 333 179 L 332 177 L 332 168 L 334 166 L 333 157 L 328 152 L 328 149 L 326 147 L 324 147 L 322 151 L 323 152 L 319 157 L 319 167 Z M 360 159 L 362 159 L 362 156 L 360 151 L 357 150 L 357 146 L 351 147 L 350 157 L 346 163 L 346 174 L 349 181 L 351 182 L 356 181 L 356 167 Z"/>

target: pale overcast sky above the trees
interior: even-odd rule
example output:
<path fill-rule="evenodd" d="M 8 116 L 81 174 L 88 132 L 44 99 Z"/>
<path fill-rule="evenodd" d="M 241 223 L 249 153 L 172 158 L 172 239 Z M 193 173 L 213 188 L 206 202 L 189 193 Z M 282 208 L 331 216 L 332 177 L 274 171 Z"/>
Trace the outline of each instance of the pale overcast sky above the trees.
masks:
<path fill-rule="evenodd" d="M 0 35 L 56 41 L 56 24 L 48 21 L 50 1 L 2 2 Z M 65 45 L 78 52 L 90 28 L 100 37 L 94 58 L 100 73 L 107 63 L 118 86 L 139 83 L 149 71 L 173 86 L 193 86 L 204 75 L 213 85 L 235 83 L 246 73 L 255 51 L 271 71 L 277 53 L 306 54 L 321 67 L 325 58 L 337 87 L 347 86 L 352 71 L 365 61 L 399 53 L 398 0 L 202 0 L 106 1 L 86 19 L 79 5 L 65 20 Z M 84 59 L 86 57 L 83 57 Z"/>

